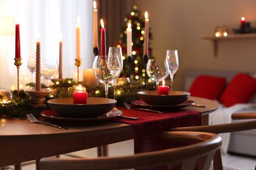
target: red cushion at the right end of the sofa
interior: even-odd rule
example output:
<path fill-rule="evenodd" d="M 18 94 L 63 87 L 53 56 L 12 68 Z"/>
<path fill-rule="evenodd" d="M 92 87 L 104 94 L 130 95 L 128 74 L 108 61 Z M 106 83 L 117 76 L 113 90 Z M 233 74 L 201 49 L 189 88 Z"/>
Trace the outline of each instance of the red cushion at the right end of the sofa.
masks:
<path fill-rule="evenodd" d="M 219 101 L 226 107 L 237 103 L 248 103 L 256 92 L 256 79 L 244 73 L 238 73 L 224 92 L 221 94 Z"/>

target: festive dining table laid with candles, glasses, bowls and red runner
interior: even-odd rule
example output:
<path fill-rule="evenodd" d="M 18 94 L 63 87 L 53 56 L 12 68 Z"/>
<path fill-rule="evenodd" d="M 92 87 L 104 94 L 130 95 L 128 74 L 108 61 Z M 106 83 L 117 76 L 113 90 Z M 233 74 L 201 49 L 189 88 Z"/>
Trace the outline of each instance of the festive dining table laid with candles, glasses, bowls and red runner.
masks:
<path fill-rule="evenodd" d="M 75 67 L 77 68 L 77 80 L 63 78 L 62 75 L 62 41 L 60 42 L 60 54 L 58 61 L 58 78 L 51 77 L 53 86 L 43 87 L 41 84 L 41 41 L 36 42 L 35 58 L 35 83 L 32 87 L 19 89 L 19 69 L 22 65 L 20 57 L 20 25 L 16 24 L 16 56 L 14 65 L 17 69 L 18 89 L 0 90 L 0 120 L 3 127 L 0 132 L 0 146 L 11 149 L 16 141 L 20 148 L 15 146 L 16 151 L 24 152 L 11 158 L 11 154 L 0 154 L 0 166 L 8 163 L 18 163 L 38 159 L 43 156 L 54 156 L 73 152 L 85 148 L 102 146 L 104 144 L 116 143 L 127 139 L 135 139 L 135 153 L 148 152 L 150 150 L 161 150 L 179 146 L 177 143 L 162 143 L 160 135 L 162 131 L 168 131 L 171 127 L 200 126 L 207 124 L 203 116 L 216 110 L 219 105 L 211 100 L 200 97 L 190 97 L 188 92 L 175 91 L 173 78 L 179 68 L 177 50 L 167 50 L 165 59 L 149 58 L 149 17 L 144 13 L 144 47 L 141 56 L 144 63 L 143 80 L 132 78 L 131 63 L 133 62 L 132 22 L 127 23 L 127 52 L 123 56 L 122 46 L 106 48 L 106 27 L 104 21 L 100 20 L 100 48 L 98 47 L 98 19 L 96 1 L 94 6 L 94 48 L 95 59 L 92 69 L 83 70 L 83 81 L 79 77 L 79 68 L 83 64 L 81 59 L 81 31 L 79 18 L 75 25 L 76 53 Z M 99 50 L 100 49 L 100 50 Z M 119 77 L 124 69 L 123 60 L 129 63 L 130 76 Z M 48 70 L 51 72 L 50 70 Z M 56 73 L 57 73 L 56 72 Z M 54 72 L 54 75 L 56 75 Z M 45 73 L 47 74 L 47 73 Z M 170 84 L 165 78 L 170 76 Z M 149 81 L 150 80 L 150 81 Z M 124 107 L 125 105 L 125 107 Z M 31 124 L 26 120 L 26 115 L 31 113 L 39 121 L 45 121 L 55 126 L 48 127 L 41 124 Z M 31 120 L 31 117 L 29 117 Z M 42 123 L 42 122 L 41 122 Z M 14 124 L 17 126 L 14 127 Z M 55 128 L 63 126 L 65 128 Z M 14 128 L 18 128 L 17 131 Z M 94 133 L 96 131 L 96 133 Z M 121 135 L 120 135 L 121 134 Z M 117 137 L 119 135 L 119 137 Z M 18 138 L 20 136 L 20 139 Z M 72 137 L 67 140 L 68 137 Z M 106 141 L 105 139 L 108 138 Z M 23 143 L 32 139 L 33 142 L 43 145 L 46 149 L 41 154 L 29 156 L 28 144 Z M 67 140 L 63 147 L 54 149 L 54 143 Z M 11 142 L 10 142 L 11 141 Z M 68 146 L 68 143 L 78 144 Z M 31 142 L 30 142 L 31 144 Z M 55 145 L 56 146 L 56 145 Z M 65 149 L 65 147 L 68 147 Z M 38 147 L 40 148 L 40 147 Z M 36 147 L 32 150 L 38 152 Z M 47 151 L 48 148 L 48 151 Z M 14 152 L 11 152 L 14 154 Z M 4 152 L 3 152 L 4 153 Z"/>

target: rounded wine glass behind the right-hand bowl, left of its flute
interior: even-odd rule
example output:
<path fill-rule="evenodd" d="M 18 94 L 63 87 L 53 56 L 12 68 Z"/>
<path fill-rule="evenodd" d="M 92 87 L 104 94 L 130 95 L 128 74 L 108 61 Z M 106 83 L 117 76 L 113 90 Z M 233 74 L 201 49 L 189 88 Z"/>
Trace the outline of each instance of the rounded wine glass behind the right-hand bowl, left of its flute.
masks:
<path fill-rule="evenodd" d="M 156 89 L 158 89 L 159 82 L 164 80 L 169 74 L 166 60 L 148 59 L 146 73 L 149 78 L 156 82 Z"/>

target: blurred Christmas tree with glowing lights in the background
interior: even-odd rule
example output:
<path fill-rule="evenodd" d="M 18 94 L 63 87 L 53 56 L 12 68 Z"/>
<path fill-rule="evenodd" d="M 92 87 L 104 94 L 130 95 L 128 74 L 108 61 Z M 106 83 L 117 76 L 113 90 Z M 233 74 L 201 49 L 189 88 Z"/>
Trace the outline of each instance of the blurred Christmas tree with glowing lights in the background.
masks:
<path fill-rule="evenodd" d="M 119 34 L 119 41 L 116 42 L 116 46 L 120 46 L 123 52 L 123 71 L 121 72 L 121 77 L 131 77 L 133 80 L 144 80 L 146 75 L 146 70 L 144 66 L 143 56 L 143 46 L 144 46 L 144 15 L 137 9 L 137 6 L 133 6 L 133 11 L 127 14 L 124 18 L 125 26 L 123 27 L 121 33 Z M 127 35 L 126 28 L 127 25 L 131 23 L 132 28 L 132 60 L 131 68 L 129 61 L 127 59 Z M 152 39 L 152 34 L 149 31 L 149 44 L 148 44 L 148 55 L 149 58 L 152 57 L 152 48 L 150 48 L 150 40 Z M 149 82 L 152 80 L 148 79 Z"/>

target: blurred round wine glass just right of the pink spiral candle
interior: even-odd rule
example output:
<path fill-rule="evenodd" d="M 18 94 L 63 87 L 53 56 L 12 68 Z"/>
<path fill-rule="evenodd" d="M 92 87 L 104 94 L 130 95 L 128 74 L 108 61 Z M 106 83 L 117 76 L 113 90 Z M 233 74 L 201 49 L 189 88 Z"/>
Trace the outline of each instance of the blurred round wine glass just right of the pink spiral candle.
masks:
<path fill-rule="evenodd" d="M 41 65 L 41 76 L 47 80 L 47 87 L 49 82 L 58 73 L 58 64 L 54 60 L 45 60 Z"/>

